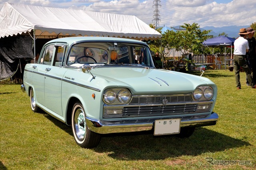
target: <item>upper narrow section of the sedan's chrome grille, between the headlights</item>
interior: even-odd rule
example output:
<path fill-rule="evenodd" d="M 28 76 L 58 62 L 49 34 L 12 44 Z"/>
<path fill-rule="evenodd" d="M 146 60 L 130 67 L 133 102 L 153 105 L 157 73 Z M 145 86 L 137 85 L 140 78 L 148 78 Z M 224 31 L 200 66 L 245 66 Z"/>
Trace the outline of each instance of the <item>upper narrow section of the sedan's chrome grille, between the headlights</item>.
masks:
<path fill-rule="evenodd" d="M 130 104 L 162 104 L 166 99 L 168 103 L 192 102 L 191 94 L 156 95 L 156 96 L 132 96 Z"/>

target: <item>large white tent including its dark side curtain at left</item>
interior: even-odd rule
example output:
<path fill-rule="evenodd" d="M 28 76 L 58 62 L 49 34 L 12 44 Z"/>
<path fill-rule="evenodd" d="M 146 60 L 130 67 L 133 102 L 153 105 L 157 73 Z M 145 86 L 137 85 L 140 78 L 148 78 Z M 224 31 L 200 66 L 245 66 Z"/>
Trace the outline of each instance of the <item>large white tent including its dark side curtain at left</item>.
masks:
<path fill-rule="evenodd" d="M 32 58 L 32 51 L 26 50 L 32 46 L 28 34 L 34 40 L 34 57 L 36 46 L 39 46 L 36 39 L 99 36 L 149 40 L 162 36 L 136 16 L 6 2 L 0 10 L 0 80 L 16 72 L 17 60 Z M 26 38 L 14 35 L 25 35 Z"/>

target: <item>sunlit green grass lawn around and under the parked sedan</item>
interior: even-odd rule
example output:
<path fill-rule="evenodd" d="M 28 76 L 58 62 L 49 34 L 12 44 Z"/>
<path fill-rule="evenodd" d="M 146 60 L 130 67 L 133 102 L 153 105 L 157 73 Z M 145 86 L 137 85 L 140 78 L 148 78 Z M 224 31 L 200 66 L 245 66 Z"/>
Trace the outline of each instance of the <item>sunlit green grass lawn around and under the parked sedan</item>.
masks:
<path fill-rule="evenodd" d="M 33 113 L 19 84 L 0 82 L 0 170 L 255 170 L 256 89 L 240 75 L 242 89 L 236 90 L 234 72 L 203 74 L 218 86 L 217 125 L 198 127 L 187 139 L 104 136 L 94 149 L 76 145 L 71 127 Z"/>

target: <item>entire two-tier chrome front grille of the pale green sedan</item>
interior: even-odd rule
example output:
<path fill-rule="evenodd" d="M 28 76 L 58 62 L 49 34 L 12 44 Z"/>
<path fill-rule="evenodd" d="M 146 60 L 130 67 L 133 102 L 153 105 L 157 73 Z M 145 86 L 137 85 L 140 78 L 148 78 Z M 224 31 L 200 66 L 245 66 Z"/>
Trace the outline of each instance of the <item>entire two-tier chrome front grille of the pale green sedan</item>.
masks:
<path fill-rule="evenodd" d="M 192 94 L 143 95 L 132 96 L 129 104 L 104 106 L 104 117 L 107 109 L 122 109 L 121 117 L 173 116 L 205 113 L 212 109 L 213 101 L 195 102 Z M 208 106 L 198 109 L 198 106 Z"/>

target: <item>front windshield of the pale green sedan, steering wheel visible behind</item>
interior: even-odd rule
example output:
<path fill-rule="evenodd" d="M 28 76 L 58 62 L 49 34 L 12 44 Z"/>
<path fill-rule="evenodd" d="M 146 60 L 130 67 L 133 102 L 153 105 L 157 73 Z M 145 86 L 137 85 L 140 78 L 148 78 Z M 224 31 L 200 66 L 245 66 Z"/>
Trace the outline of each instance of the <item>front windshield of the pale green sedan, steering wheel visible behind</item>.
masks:
<path fill-rule="evenodd" d="M 96 42 L 73 45 L 66 65 L 80 67 L 83 64 L 125 65 L 154 67 L 150 49 L 143 44 Z"/>

